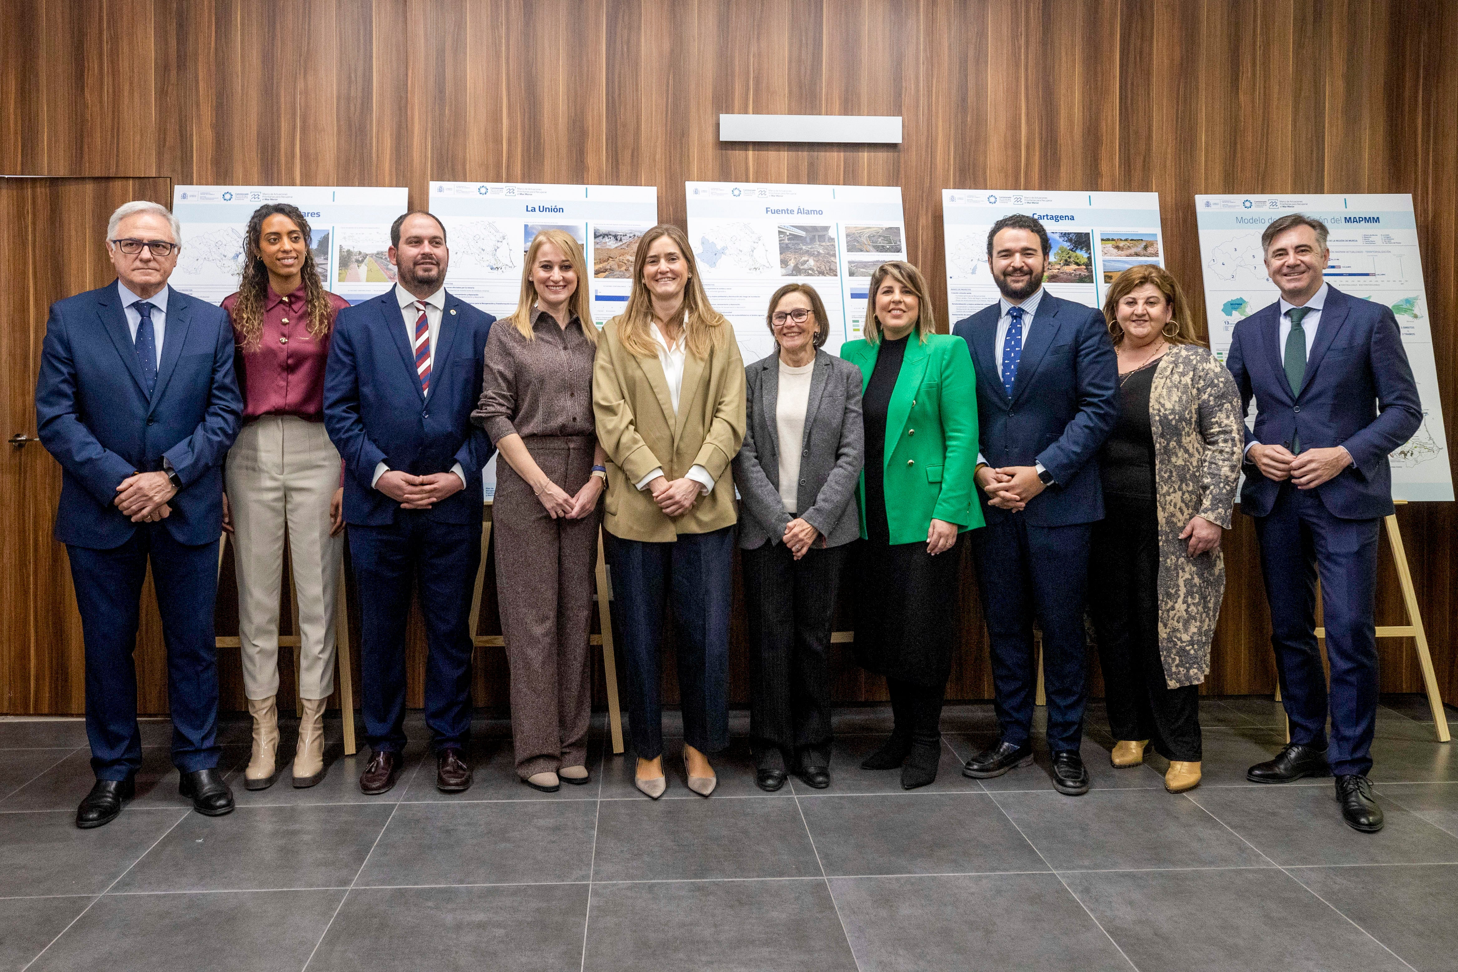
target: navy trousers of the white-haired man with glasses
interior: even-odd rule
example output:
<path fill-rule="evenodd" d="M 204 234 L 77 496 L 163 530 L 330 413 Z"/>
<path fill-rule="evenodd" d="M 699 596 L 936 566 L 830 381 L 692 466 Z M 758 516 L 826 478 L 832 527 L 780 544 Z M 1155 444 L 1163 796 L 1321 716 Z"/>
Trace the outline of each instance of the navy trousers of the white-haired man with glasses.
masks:
<path fill-rule="evenodd" d="M 141 767 L 133 653 L 149 560 L 168 647 L 172 762 L 182 772 L 217 767 L 217 541 L 185 546 L 165 523 L 140 523 L 121 546 L 67 545 L 66 552 L 86 643 L 86 737 L 96 778 L 125 780 Z"/>

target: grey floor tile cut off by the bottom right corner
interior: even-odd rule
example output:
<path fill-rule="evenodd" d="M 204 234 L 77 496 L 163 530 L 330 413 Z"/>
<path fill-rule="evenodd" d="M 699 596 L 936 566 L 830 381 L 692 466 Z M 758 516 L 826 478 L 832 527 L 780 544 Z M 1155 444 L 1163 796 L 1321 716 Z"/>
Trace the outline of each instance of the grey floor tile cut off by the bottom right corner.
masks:
<path fill-rule="evenodd" d="M 1295 867 L 1290 874 L 1413 968 L 1458 969 L 1458 866 Z"/>

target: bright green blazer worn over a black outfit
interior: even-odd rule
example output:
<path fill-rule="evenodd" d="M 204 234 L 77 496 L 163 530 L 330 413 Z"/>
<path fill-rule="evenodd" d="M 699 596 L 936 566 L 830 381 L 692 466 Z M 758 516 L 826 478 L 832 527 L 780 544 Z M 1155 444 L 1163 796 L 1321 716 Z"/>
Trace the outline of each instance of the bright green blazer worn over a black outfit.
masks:
<path fill-rule="evenodd" d="M 840 356 L 870 382 L 879 344 L 847 341 Z M 907 342 L 886 415 L 886 526 L 892 544 L 924 544 L 932 520 L 983 526 L 977 469 L 977 379 L 967 341 L 929 334 Z M 860 475 L 860 536 L 866 538 L 866 475 Z"/>

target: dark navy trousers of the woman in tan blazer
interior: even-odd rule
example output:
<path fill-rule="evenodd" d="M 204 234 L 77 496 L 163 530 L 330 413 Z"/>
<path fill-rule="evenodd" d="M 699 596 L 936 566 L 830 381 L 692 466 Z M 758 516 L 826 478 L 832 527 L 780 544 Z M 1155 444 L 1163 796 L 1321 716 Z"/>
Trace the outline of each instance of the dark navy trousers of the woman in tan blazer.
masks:
<path fill-rule="evenodd" d="M 733 528 L 679 533 L 672 544 L 607 535 L 612 599 L 623 630 L 633 750 L 663 752 L 659 650 L 663 608 L 672 595 L 684 742 L 712 753 L 729 745 L 729 612 L 733 603 Z"/>

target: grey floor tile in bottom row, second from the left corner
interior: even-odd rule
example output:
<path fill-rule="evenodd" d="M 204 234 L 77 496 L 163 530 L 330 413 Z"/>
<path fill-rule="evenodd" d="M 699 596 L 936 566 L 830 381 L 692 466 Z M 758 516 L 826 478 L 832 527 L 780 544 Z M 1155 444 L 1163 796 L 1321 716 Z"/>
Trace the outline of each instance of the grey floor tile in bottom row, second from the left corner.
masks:
<path fill-rule="evenodd" d="M 106 895 L 31 972 L 302 969 L 343 890 Z"/>

